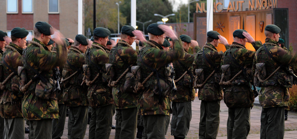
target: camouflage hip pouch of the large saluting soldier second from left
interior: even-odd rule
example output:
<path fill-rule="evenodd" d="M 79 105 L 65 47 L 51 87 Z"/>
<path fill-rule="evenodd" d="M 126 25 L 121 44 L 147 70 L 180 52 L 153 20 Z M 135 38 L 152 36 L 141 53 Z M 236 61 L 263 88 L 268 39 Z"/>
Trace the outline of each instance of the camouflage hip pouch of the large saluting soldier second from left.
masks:
<path fill-rule="evenodd" d="M 56 94 L 53 92 L 54 82 L 53 79 L 49 79 L 48 82 L 44 83 L 41 80 L 36 85 L 35 95 L 42 99 L 56 99 Z"/>

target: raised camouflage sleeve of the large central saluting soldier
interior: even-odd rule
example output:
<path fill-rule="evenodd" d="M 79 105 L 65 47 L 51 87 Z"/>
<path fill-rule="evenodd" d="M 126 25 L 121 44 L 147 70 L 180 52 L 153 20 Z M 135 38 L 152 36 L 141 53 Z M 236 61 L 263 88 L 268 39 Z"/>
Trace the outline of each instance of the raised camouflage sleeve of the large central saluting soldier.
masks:
<path fill-rule="evenodd" d="M 174 49 L 170 49 L 169 51 L 163 51 L 161 49 L 151 49 L 146 58 L 148 58 L 149 61 L 156 63 L 157 67 L 165 66 L 168 63 L 183 58 L 184 48 L 181 45 L 181 41 L 174 40 L 173 46 Z"/>

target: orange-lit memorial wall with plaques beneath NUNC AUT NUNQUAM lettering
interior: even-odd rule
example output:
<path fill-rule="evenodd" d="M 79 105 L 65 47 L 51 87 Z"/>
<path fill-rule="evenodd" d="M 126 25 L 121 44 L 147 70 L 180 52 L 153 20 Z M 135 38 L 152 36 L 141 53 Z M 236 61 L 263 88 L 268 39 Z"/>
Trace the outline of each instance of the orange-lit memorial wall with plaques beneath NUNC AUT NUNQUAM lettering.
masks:
<path fill-rule="evenodd" d="M 241 12 L 214 12 L 213 30 L 218 31 L 224 36 L 229 44 L 233 42 L 233 31 L 244 29 L 251 34 L 255 40 L 265 42 L 264 28 L 268 24 L 275 24 L 281 28 L 280 36 L 282 39 L 288 38 L 288 9 L 273 8 Z M 194 38 L 200 46 L 206 43 L 206 13 L 194 13 Z M 288 48 L 288 43 L 285 44 Z M 255 49 L 252 44 L 247 43 L 246 48 Z M 225 51 L 225 46 L 219 44 L 218 51 Z"/>

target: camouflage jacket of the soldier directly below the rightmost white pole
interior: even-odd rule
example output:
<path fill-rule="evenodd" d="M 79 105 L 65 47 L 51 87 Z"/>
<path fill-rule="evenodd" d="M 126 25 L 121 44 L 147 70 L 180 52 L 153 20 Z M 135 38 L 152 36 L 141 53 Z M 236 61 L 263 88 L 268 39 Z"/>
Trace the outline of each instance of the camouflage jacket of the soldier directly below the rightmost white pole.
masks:
<path fill-rule="evenodd" d="M 199 79 L 202 79 L 201 82 L 204 82 L 206 78 L 215 70 L 215 73 L 208 79 L 208 81 L 204 84 L 202 88 L 198 90 L 198 98 L 203 101 L 214 101 L 214 100 L 222 100 L 223 92 L 222 87 L 219 85 L 221 70 L 220 63 L 222 60 L 223 52 L 218 52 L 216 47 L 214 47 L 210 43 L 206 43 L 207 47 L 203 47 L 196 55 L 193 62 L 193 71 L 195 74 L 195 69 L 203 69 L 203 74 L 201 74 Z M 203 56 L 204 54 L 207 60 Z M 202 84 L 202 83 L 200 83 Z"/>

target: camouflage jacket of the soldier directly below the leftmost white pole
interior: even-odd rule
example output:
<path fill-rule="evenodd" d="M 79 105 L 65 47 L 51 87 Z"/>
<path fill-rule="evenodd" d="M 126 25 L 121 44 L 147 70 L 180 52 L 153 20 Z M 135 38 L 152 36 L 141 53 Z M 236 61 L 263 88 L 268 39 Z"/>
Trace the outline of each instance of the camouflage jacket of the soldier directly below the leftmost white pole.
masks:
<path fill-rule="evenodd" d="M 83 64 L 85 56 L 76 47 L 70 47 L 66 64 L 63 67 L 63 79 L 78 71 L 74 76 L 64 81 L 63 101 L 66 106 L 87 106 L 88 88 L 80 84 L 83 82 Z"/>

